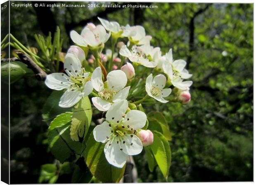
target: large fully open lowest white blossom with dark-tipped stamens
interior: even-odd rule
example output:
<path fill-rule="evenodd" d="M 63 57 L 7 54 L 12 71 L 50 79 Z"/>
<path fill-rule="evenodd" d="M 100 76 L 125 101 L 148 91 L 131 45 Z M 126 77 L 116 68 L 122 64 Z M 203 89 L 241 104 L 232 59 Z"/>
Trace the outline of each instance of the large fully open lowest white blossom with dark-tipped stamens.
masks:
<path fill-rule="evenodd" d="M 142 142 L 136 136 L 137 130 L 144 127 L 147 116 L 144 112 L 128 109 L 127 100 L 115 102 L 106 114 L 106 121 L 93 130 L 94 139 L 106 143 L 104 153 L 109 164 L 122 168 L 128 155 L 142 151 Z"/>

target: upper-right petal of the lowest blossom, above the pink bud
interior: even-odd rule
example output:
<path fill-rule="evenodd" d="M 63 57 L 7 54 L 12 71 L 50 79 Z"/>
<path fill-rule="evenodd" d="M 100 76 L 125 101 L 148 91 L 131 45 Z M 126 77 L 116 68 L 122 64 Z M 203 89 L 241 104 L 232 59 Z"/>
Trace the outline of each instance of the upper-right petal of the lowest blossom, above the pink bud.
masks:
<path fill-rule="evenodd" d="M 123 119 L 123 125 L 129 125 L 130 128 L 139 129 L 145 126 L 147 116 L 144 112 L 138 110 L 131 110 L 126 114 Z"/>

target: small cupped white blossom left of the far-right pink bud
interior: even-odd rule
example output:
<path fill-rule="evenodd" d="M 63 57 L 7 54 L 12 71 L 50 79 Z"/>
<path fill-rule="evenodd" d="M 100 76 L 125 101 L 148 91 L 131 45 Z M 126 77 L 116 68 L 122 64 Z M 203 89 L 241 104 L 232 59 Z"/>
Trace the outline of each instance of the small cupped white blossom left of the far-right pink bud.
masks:
<path fill-rule="evenodd" d="M 168 101 L 164 99 L 171 94 L 171 88 L 165 88 L 166 77 L 163 74 L 156 75 L 153 79 L 153 75 L 149 74 L 146 79 L 146 91 L 150 97 L 153 97 L 159 102 L 167 103 Z"/>

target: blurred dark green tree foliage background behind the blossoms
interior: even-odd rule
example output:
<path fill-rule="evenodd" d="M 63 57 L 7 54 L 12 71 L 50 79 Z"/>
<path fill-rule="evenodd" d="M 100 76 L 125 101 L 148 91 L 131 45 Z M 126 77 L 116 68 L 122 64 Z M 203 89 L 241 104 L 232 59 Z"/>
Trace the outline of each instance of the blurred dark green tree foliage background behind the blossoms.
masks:
<path fill-rule="evenodd" d="M 157 6 L 142 9 L 66 3 L 86 6 L 11 7 L 10 32 L 25 46 L 38 47 L 33 35 L 54 33 L 59 26 L 66 52 L 73 44 L 69 32 L 80 32 L 89 22 L 100 23 L 97 16 L 121 25 L 143 25 L 153 38 L 152 46 L 161 47 L 163 55 L 172 48 L 173 58 L 186 60 L 193 74 L 190 104 L 161 104 L 146 110 L 163 112 L 172 132 L 168 181 L 253 180 L 253 4 L 118 2 Z M 2 17 L 1 26 L 5 21 Z M 55 161 L 41 116 L 50 93 L 34 77 L 11 85 L 10 183 L 38 183 L 41 165 Z M 138 182 L 165 182 L 158 167 L 149 171 L 143 154 L 134 156 Z M 71 176 L 60 175 L 57 183 L 70 183 Z"/>

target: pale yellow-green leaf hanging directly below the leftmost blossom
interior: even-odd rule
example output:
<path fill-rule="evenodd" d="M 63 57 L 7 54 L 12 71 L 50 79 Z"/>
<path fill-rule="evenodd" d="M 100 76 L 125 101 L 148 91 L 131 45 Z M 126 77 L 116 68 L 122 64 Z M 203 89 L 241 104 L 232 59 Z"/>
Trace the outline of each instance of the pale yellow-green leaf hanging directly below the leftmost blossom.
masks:
<path fill-rule="evenodd" d="M 90 99 L 83 97 L 76 104 L 73 117 L 71 120 L 70 136 L 74 141 L 79 141 L 80 138 L 85 138 L 88 133 L 92 120 L 92 107 Z"/>

